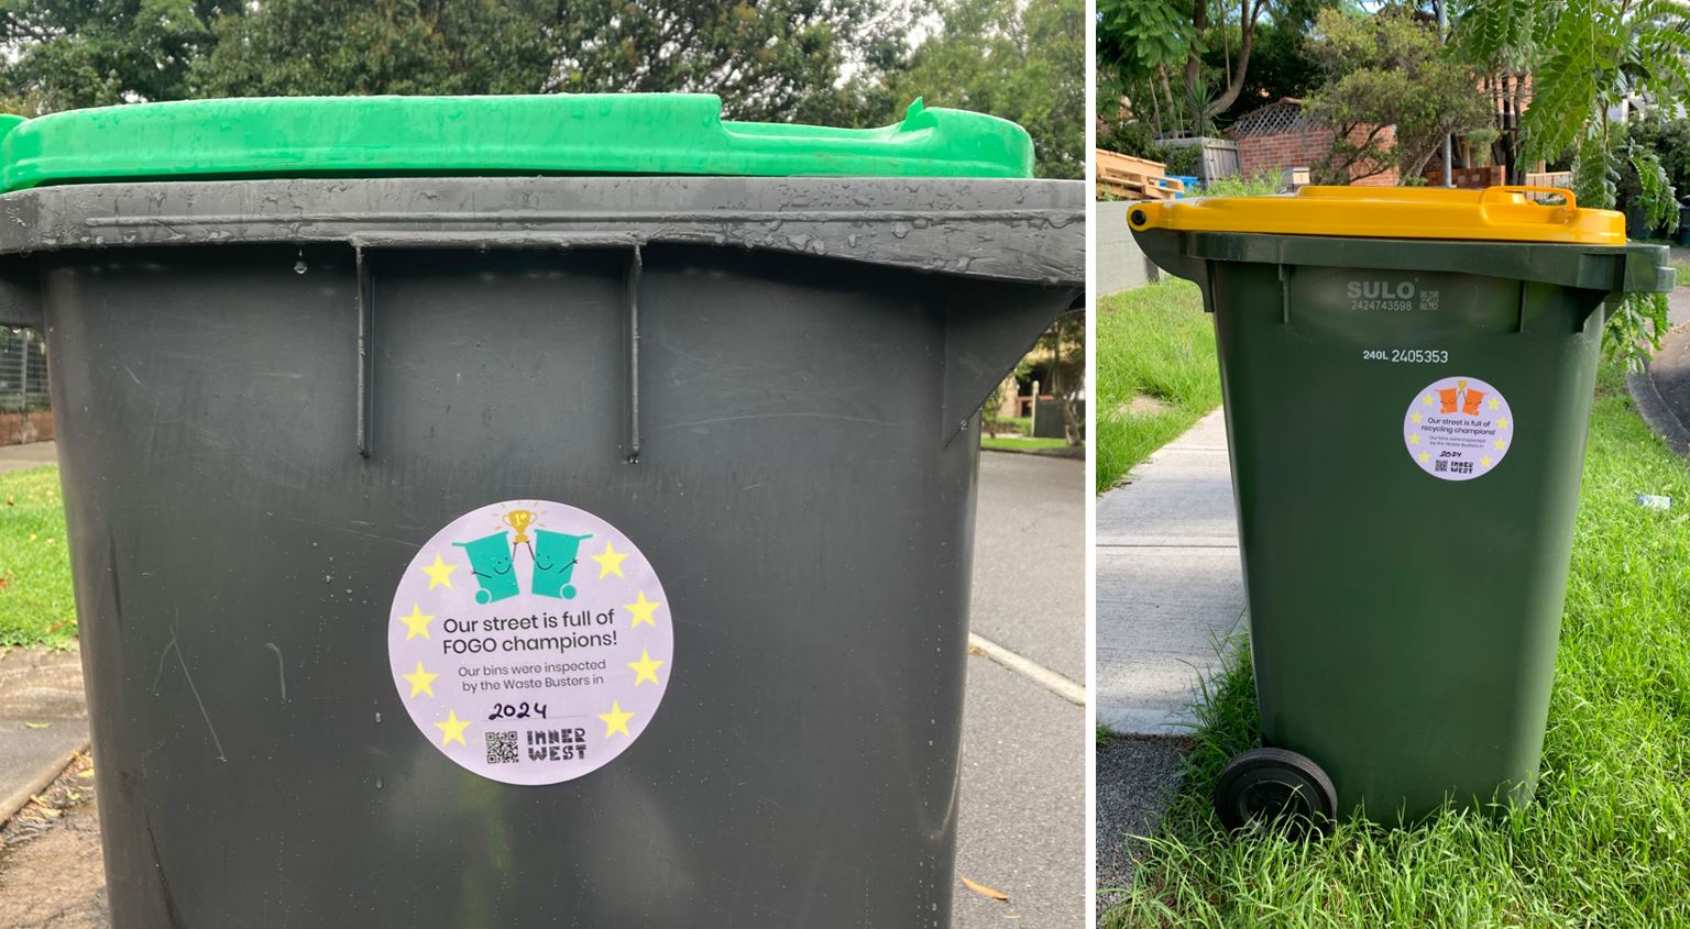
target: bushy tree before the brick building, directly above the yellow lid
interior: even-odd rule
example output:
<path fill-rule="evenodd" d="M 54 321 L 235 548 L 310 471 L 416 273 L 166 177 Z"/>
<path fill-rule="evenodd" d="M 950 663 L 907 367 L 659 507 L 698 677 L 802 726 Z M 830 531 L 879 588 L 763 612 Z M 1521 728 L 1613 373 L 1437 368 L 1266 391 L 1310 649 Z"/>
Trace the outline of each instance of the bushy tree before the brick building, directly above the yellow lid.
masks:
<path fill-rule="evenodd" d="M 1477 74 L 1406 7 L 1376 15 L 1322 10 L 1311 49 L 1327 83 L 1305 111 L 1337 133 L 1318 166 L 1320 182 L 1393 169 L 1418 177 L 1443 139 L 1491 125 Z"/>

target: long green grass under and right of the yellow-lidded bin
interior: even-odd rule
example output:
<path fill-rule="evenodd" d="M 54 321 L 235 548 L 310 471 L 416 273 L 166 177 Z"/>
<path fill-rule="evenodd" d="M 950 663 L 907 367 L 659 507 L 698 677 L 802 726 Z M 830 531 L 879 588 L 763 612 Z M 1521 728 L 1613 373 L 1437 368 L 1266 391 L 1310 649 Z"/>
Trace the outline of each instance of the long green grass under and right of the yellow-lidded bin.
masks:
<path fill-rule="evenodd" d="M 1665 493 L 1670 512 L 1634 495 Z M 1536 802 L 1328 838 L 1218 831 L 1257 743 L 1247 659 L 1210 684 L 1181 794 L 1107 927 L 1690 926 L 1690 470 L 1604 365 Z M 1240 652 L 1242 655 L 1242 652 Z"/>

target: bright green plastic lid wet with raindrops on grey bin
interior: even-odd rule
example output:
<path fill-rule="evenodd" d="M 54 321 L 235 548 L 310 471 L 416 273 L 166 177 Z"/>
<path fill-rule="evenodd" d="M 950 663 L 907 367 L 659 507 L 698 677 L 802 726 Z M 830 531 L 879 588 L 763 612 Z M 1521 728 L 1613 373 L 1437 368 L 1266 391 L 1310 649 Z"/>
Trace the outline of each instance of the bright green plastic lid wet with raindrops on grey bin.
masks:
<path fill-rule="evenodd" d="M 722 120 L 703 93 L 186 100 L 0 117 L 0 187 L 144 177 L 703 174 L 1031 177 L 1007 120 L 928 110 L 880 128 Z"/>

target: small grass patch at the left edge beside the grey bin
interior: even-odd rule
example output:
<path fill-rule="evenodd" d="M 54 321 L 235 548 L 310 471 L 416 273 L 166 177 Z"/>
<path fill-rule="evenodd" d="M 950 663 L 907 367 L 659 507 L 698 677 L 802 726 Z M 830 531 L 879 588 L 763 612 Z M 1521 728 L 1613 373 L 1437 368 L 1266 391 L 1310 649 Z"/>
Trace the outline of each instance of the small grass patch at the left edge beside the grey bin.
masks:
<path fill-rule="evenodd" d="M 0 475 L 0 649 L 76 638 L 59 470 Z"/>

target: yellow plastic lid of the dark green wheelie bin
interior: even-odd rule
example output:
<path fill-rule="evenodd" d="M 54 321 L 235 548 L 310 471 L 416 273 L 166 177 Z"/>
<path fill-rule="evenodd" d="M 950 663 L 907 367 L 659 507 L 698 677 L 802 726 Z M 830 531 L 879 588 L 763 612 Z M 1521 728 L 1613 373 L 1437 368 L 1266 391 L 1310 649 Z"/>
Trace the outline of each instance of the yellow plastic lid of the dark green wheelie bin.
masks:
<path fill-rule="evenodd" d="M 1556 194 L 1545 204 L 1526 194 Z M 1303 187 L 1289 196 L 1136 203 L 1134 230 L 1624 245 L 1626 216 L 1565 187 Z"/>

